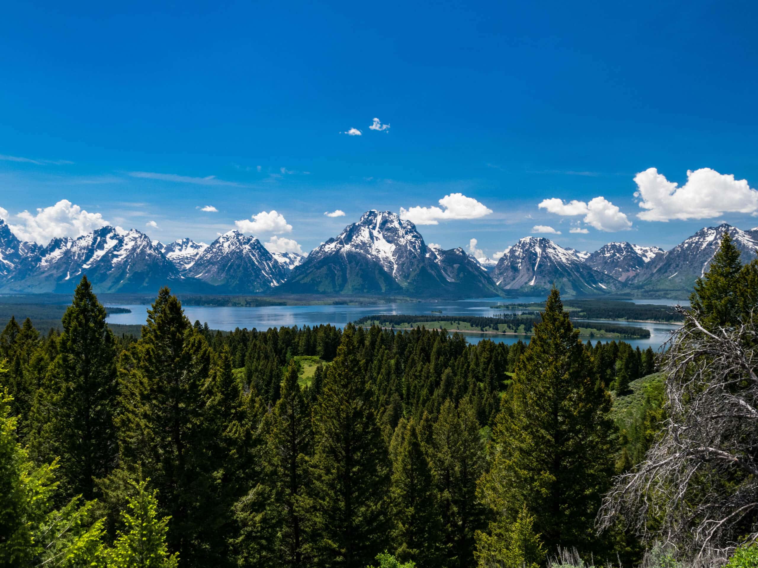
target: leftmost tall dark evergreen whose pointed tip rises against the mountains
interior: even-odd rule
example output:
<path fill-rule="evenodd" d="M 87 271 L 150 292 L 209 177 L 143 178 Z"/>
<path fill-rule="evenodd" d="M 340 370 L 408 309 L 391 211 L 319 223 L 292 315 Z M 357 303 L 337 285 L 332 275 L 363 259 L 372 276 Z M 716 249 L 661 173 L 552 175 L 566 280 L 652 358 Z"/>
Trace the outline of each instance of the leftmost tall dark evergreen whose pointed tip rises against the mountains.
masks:
<path fill-rule="evenodd" d="M 114 337 L 105 307 L 83 276 L 63 316 L 58 356 L 49 370 L 55 396 L 52 434 L 67 495 L 95 496 L 95 479 L 115 466 L 118 384 Z"/>

